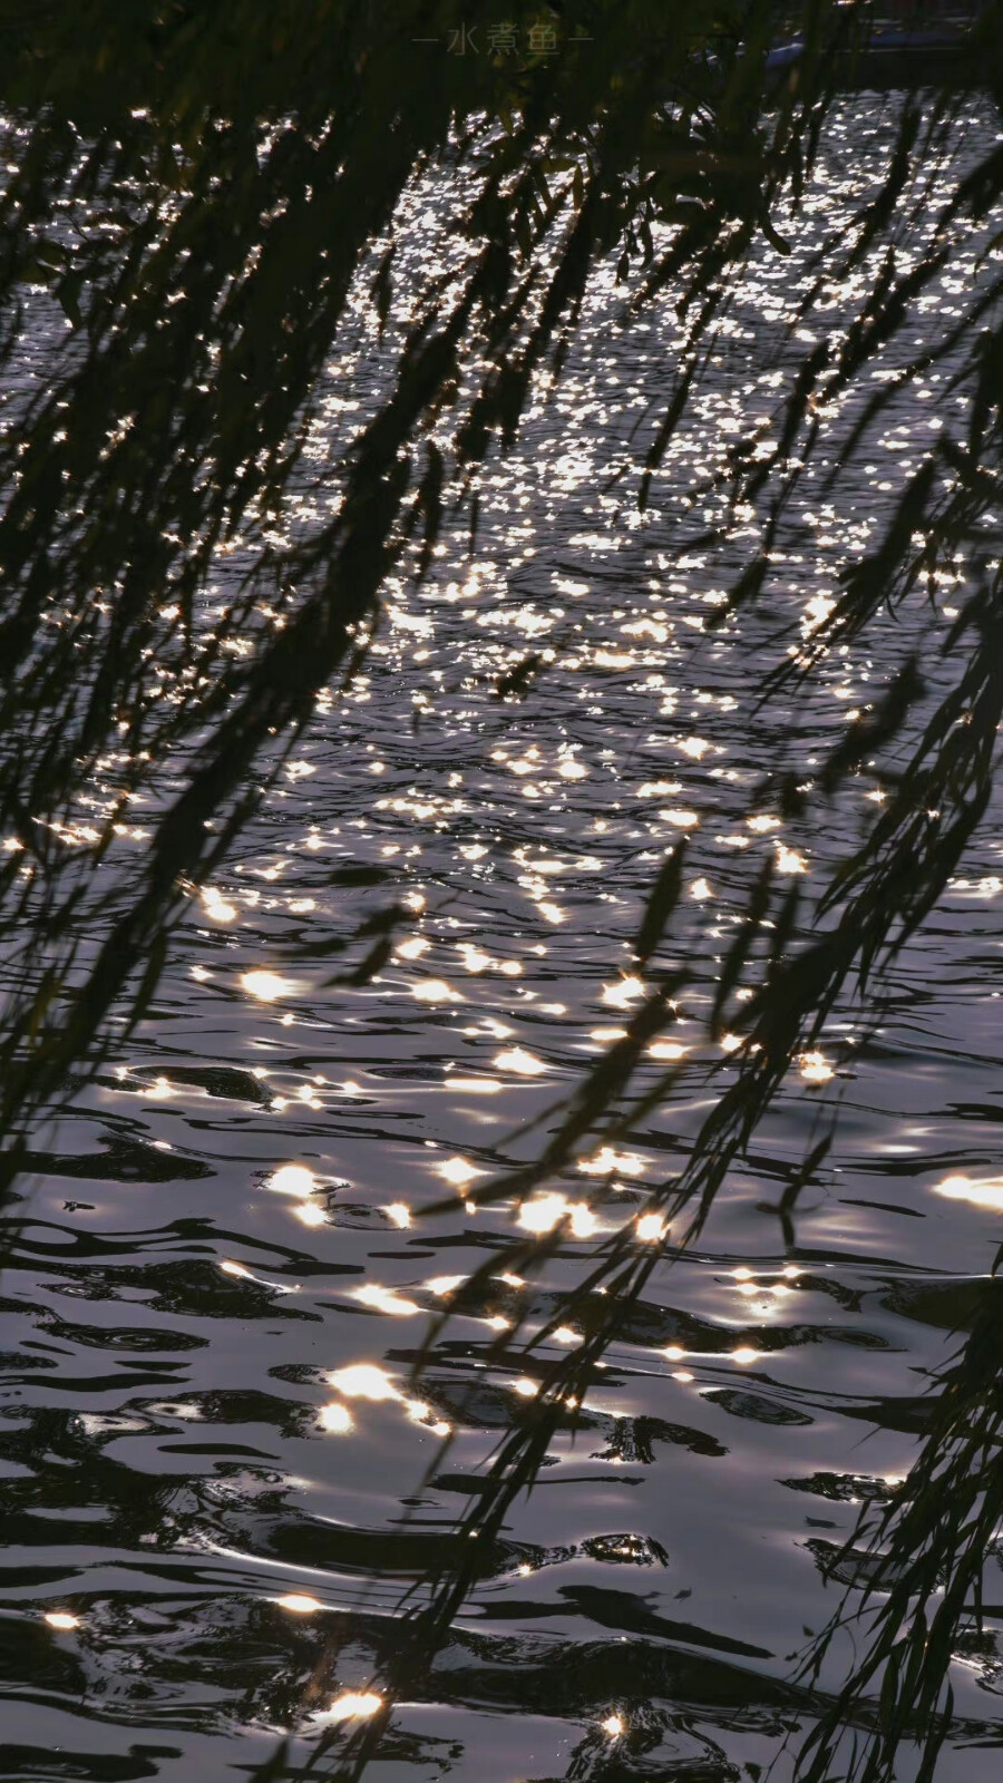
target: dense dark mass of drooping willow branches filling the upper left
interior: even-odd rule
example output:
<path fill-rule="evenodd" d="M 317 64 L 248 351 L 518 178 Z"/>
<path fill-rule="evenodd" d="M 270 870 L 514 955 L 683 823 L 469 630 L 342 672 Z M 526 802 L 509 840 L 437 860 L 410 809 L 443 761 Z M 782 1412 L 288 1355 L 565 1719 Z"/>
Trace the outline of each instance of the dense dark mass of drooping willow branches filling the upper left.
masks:
<path fill-rule="evenodd" d="M 651 225 L 682 205 L 662 257 L 709 316 L 760 226 L 798 107 L 764 123 L 762 59 L 728 5 L 659 29 L 632 11 L 641 62 L 630 16 L 598 0 L 559 59 L 439 55 L 434 78 L 416 78 L 414 43 L 448 36 L 446 5 L 414 0 L 389 29 L 344 4 L 307 16 L 245 0 L 221 27 L 191 0 L 157 16 L 152 55 L 109 5 L 86 43 L 70 9 L 43 16 L 14 64 L 0 203 L 7 1180 L 34 1111 L 71 1063 L 96 1059 L 109 1013 L 148 1006 L 186 895 L 318 688 L 357 667 L 389 569 L 428 571 L 450 489 L 469 499 L 478 464 L 559 374 L 596 260 L 655 266 Z M 239 48 L 209 78 L 221 29 Z M 773 169 L 767 189 L 735 180 L 742 155 Z M 402 314 L 394 218 L 423 177 L 446 209 L 446 269 Z M 373 257 L 385 394 L 339 446 L 330 517 L 303 531 L 289 519 L 303 446 Z M 232 553 L 209 624 L 205 587 Z M 161 793 L 164 761 L 186 754 L 182 793 Z M 96 827 L 80 818 L 95 781 L 109 795 Z M 141 793 L 161 806 L 145 858 L 116 840 Z M 96 950 L 93 931 L 107 936 Z"/>

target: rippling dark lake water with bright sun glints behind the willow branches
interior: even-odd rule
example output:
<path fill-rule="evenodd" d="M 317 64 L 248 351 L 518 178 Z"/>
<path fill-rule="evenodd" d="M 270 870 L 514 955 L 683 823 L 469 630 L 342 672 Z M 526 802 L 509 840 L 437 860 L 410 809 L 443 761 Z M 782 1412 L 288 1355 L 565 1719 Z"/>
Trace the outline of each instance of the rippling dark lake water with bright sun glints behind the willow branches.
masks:
<path fill-rule="evenodd" d="M 964 578 L 944 578 L 939 612 L 882 613 L 803 695 L 751 694 L 791 642 L 780 628 L 807 638 L 880 528 L 941 392 L 892 412 L 835 492 L 825 467 L 805 476 L 775 588 L 735 629 L 705 622 L 751 515 L 725 551 L 680 555 L 717 508 L 684 515 L 678 494 L 782 394 L 803 257 L 889 116 L 864 98 L 837 119 L 794 262 L 751 269 L 644 517 L 609 478 L 664 399 L 678 326 L 671 310 L 626 326 L 596 278 L 573 366 L 491 474 L 473 560 L 457 537 L 421 594 L 391 587 L 366 670 L 318 701 L 178 934 L 153 1018 L 39 1130 L 2 1282 L 4 1779 L 221 1783 L 291 1717 L 305 1751 L 366 1708 L 352 1697 L 393 1649 L 403 1592 L 448 1558 L 555 1353 L 500 1360 L 500 1330 L 532 1335 L 603 1236 L 642 1220 L 728 1080 L 701 1016 L 753 874 L 775 852 L 821 888 L 873 815 L 873 783 L 851 779 L 823 817 L 750 824 L 764 772 L 810 772 L 848 710 L 946 629 Z M 969 144 L 992 130 L 973 112 Z M 416 200 L 416 264 L 434 226 Z M 921 326 L 946 326 L 973 262 L 974 244 Z M 321 465 L 368 399 L 368 351 L 332 369 Z M 323 489 L 302 501 L 323 510 Z M 493 699 L 530 651 L 553 661 L 526 699 Z M 935 694 L 930 642 L 924 665 Z M 421 1697 L 396 1710 L 378 1783 L 734 1779 L 773 1760 L 789 1776 L 785 1740 L 817 1706 L 789 1683 L 794 1655 L 839 1599 L 826 1562 L 908 1469 L 930 1373 L 999 1243 L 999 815 L 896 961 L 876 1027 L 835 1013 L 700 1245 L 666 1252 L 578 1432 L 553 1442 Z M 539 1136 L 516 1129 L 621 1027 L 630 938 L 682 833 L 678 957 L 696 982 L 671 1036 L 689 1048 L 676 1089 L 528 1212 L 423 1218 L 448 1184 L 532 1155 Z M 332 884 L 359 863 L 387 879 Z M 414 920 L 393 959 L 361 990 L 330 986 L 328 943 L 402 897 Z M 837 1145 L 787 1246 L 769 1207 L 832 1100 Z M 569 1237 L 525 1284 L 509 1253 L 566 1202 Z M 460 1302 L 416 1401 L 427 1316 L 485 1257 L 491 1291 Z M 1003 1746 L 996 1637 L 955 1669 L 937 1779 L 982 1783 Z"/>

